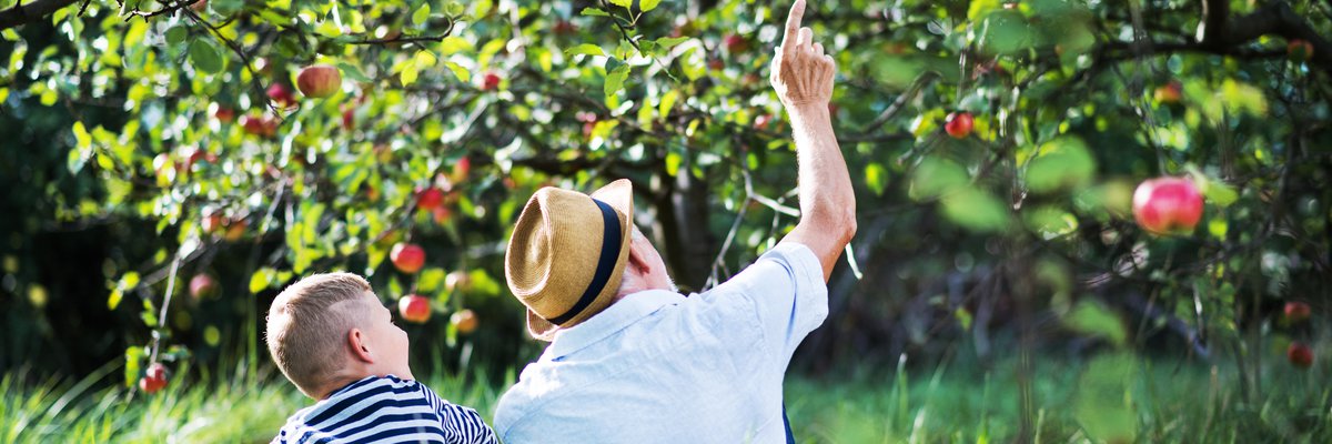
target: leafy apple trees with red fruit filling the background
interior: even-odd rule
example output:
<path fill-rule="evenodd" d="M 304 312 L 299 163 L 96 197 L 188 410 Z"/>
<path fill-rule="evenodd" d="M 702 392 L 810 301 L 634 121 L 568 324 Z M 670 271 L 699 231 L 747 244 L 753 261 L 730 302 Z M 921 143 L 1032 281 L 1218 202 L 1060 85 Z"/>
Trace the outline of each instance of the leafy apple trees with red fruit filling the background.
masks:
<path fill-rule="evenodd" d="M 128 381 L 210 349 L 253 369 L 268 300 L 330 269 L 386 304 L 425 297 L 418 348 L 511 365 L 529 345 L 505 236 L 545 185 L 633 179 L 685 289 L 798 216 L 767 83 L 786 1 L 3 4 L 3 144 L 56 152 L 21 168 L 59 183 L 29 185 L 44 220 L 13 232 L 128 227 L 87 276 L 107 283 L 96 297 L 27 261 L 4 291 L 39 319 L 56 301 L 131 315 Z M 1332 4 L 854 0 L 805 21 L 838 63 L 859 233 L 798 367 L 958 340 L 988 359 L 1007 331 L 1024 351 L 1163 347 L 1260 391 L 1264 360 L 1325 337 Z M 336 68 L 313 79 L 328 97 L 297 91 L 312 65 Z M 1135 189 L 1163 176 L 1201 212 L 1144 203 L 1164 217 L 1148 231 Z M 402 267 L 408 244 L 421 264 Z"/>

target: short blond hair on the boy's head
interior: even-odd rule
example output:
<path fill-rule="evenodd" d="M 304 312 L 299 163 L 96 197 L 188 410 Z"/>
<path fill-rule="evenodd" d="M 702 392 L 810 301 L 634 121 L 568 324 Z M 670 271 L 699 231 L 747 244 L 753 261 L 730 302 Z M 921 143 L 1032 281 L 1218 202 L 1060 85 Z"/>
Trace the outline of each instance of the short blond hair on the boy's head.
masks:
<path fill-rule="evenodd" d="M 352 273 L 321 273 L 286 287 L 268 308 L 268 351 L 302 393 L 318 397 L 344 368 L 346 333 L 365 321 L 370 283 Z"/>

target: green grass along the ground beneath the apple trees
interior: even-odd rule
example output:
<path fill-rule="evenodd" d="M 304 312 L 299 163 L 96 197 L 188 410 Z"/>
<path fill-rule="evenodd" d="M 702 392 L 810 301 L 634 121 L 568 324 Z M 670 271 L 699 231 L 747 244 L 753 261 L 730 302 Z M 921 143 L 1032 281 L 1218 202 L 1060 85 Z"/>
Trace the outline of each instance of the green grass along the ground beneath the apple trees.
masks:
<path fill-rule="evenodd" d="M 1237 376 L 1219 367 L 1134 359 L 1038 360 L 1030 375 L 1035 443 L 1329 443 L 1332 399 L 1320 367 L 1272 363 L 1260 401 L 1244 403 Z M 113 364 L 79 381 L 0 379 L 0 443 L 266 443 L 309 405 L 280 376 L 202 375 L 213 384 L 172 384 L 153 396 L 89 389 L 116 377 Z M 189 372 L 190 369 L 184 369 Z M 1015 364 L 787 379 L 786 403 L 801 443 L 1007 443 L 1019 432 Z M 477 373 L 481 375 L 481 373 Z M 492 417 L 511 383 L 437 375 L 444 397 Z M 1116 437 L 1118 436 L 1118 437 Z"/>

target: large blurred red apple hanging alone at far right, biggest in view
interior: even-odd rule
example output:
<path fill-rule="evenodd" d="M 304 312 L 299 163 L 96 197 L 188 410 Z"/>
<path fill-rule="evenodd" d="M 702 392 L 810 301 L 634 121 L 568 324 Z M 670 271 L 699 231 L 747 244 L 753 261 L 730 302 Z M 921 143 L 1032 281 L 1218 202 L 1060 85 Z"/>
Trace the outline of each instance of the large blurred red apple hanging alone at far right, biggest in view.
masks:
<path fill-rule="evenodd" d="M 1143 181 L 1134 192 L 1134 219 L 1154 235 L 1192 232 L 1203 219 L 1203 195 L 1184 177 Z"/>

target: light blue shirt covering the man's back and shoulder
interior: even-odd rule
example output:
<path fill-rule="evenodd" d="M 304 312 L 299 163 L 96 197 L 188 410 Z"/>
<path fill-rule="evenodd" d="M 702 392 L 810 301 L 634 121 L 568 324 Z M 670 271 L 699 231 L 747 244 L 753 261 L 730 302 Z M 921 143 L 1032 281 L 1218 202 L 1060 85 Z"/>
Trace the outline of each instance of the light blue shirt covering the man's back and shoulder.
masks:
<path fill-rule="evenodd" d="M 629 295 L 561 332 L 500 401 L 521 443 L 782 443 L 782 377 L 827 315 L 818 259 L 775 248 L 718 288 Z"/>

